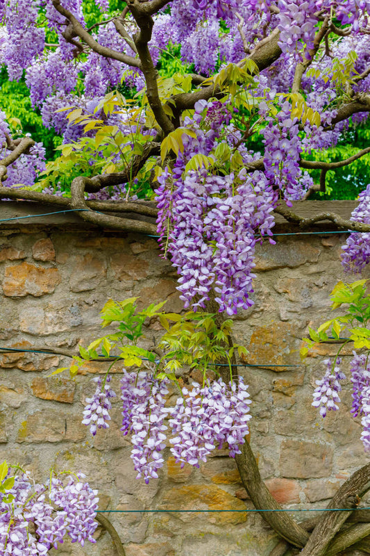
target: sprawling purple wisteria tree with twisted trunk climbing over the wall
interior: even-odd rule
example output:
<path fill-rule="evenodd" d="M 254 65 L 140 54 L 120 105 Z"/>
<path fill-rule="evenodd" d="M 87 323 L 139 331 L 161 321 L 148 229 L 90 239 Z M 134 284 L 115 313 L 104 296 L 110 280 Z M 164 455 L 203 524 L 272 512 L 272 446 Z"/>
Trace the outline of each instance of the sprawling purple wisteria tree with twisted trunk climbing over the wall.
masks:
<path fill-rule="evenodd" d="M 370 261 L 370 186 L 351 220 L 333 213 L 303 219 L 291 210 L 292 201 L 325 192 L 336 168 L 370 152 L 365 147 L 330 162 L 330 152 L 370 111 L 369 2 L 1 0 L 0 11 L 1 63 L 10 80 L 25 77 L 44 126 L 62 136 L 60 156 L 46 161 L 43 145 L 22 136 L 17 118 L 0 113 L 3 199 L 47 202 L 93 224 L 160 236 L 164 256 L 178 270 L 185 309 L 214 315 L 215 336 L 228 326 L 224 313 L 253 304 L 255 243 L 265 237 L 274 243 L 276 214 L 298 228 L 331 220 L 353 231 L 344 246 L 346 270 L 360 271 Z M 160 71 L 166 52 L 180 59 L 167 75 Z M 157 226 L 125 213 L 155 217 Z M 230 335 L 219 337 L 228 347 L 219 353 L 235 362 Z M 194 418 L 212 421 L 215 397 L 233 416 L 220 420 L 218 436 L 198 439 L 205 451 L 196 452 L 179 406 L 171 424 L 178 433 L 174 453 L 197 464 L 216 443 L 228 442 L 255 507 L 278 509 L 249 443 L 242 443 L 249 417 L 244 385 L 226 369 L 219 367 L 215 386 L 196 386 L 183 399 L 192 400 Z M 353 373 L 355 402 L 367 414 L 367 397 L 358 394 L 368 384 L 367 359 L 359 355 Z M 336 363 L 329 363 L 314 404 L 335 409 L 340 378 Z M 155 477 L 161 463 L 153 454 L 160 452 L 169 416 L 160 411 L 168 379 L 166 370 L 135 380 L 128 373 L 122 384 L 124 432 L 135 432 L 148 411 L 155 416 L 151 432 L 158 423 L 156 439 L 137 428 L 133 459 L 140 471 L 151 455 L 146 478 Z M 107 378 L 85 411 L 92 432 L 107 423 L 110 395 Z M 195 455 L 184 453 L 185 440 Z M 334 555 L 366 537 L 369 516 L 353 517 L 351 508 L 369 488 L 370 464 L 330 502 L 347 511 L 305 523 L 262 514 L 283 539 L 274 556 L 289 546 L 303 548 L 304 556 Z M 346 528 L 351 519 L 365 523 Z M 12 554 L 25 553 L 17 540 L 14 546 Z"/>

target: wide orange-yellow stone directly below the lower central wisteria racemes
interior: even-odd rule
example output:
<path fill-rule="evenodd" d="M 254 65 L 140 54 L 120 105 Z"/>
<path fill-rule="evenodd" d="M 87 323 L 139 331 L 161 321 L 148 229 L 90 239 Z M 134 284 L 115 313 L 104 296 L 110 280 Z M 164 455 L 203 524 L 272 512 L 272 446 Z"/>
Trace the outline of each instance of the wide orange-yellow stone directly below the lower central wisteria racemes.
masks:
<path fill-rule="evenodd" d="M 191 484 L 169 489 L 162 498 L 163 509 L 237 509 L 244 503 L 214 484 Z M 196 514 L 193 514 L 196 517 Z M 197 516 L 199 518 L 199 516 Z M 215 512 L 206 514 L 210 523 L 217 525 L 244 523 L 246 512 Z"/>

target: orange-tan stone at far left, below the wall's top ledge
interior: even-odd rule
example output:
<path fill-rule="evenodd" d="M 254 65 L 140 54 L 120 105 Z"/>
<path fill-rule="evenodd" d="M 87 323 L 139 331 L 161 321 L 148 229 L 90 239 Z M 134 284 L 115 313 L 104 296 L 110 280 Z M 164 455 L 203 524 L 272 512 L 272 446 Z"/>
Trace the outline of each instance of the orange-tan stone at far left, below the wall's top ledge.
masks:
<path fill-rule="evenodd" d="M 53 293 L 60 281 L 58 268 L 40 268 L 24 262 L 6 267 L 3 293 L 8 297 L 24 297 L 27 294 L 40 297 Z"/>

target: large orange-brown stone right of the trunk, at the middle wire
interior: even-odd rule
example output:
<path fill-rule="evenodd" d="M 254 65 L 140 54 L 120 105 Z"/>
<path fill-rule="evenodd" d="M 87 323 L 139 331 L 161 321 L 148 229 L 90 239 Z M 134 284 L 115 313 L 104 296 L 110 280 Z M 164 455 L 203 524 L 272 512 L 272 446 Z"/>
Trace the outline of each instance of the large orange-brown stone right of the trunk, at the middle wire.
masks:
<path fill-rule="evenodd" d="M 296 329 L 289 322 L 271 322 L 270 325 L 255 327 L 251 341 L 247 347 L 249 354 L 242 359 L 249 364 L 255 363 L 262 366 L 263 363 L 280 365 L 269 368 L 277 373 L 285 370 L 295 370 L 294 367 L 284 366 L 296 364 L 299 366 L 298 347 L 300 342 L 293 336 Z"/>

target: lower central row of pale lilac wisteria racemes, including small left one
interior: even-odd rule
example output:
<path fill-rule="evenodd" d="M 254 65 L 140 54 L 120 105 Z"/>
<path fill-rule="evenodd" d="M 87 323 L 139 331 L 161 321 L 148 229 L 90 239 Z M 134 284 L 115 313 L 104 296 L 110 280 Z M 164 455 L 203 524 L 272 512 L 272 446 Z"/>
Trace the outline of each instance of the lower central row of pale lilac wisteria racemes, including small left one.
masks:
<path fill-rule="evenodd" d="M 86 400 L 84 425 L 96 434 L 96 427 L 109 427 L 107 399 L 115 396 L 107 376 L 103 391 Z M 175 461 L 199 467 L 201 461 L 226 443 L 230 457 L 240 453 L 249 432 L 249 393 L 242 377 L 226 385 L 221 379 L 203 387 L 193 383 L 183 387 L 174 407 L 167 403 L 168 379 L 158 380 L 150 373 L 127 373 L 121 378 L 122 427 L 131 434 L 131 458 L 137 478 L 158 478 L 163 466 L 163 450 L 171 445 Z M 104 416 L 104 417 L 102 417 Z M 168 432 L 170 431 L 170 433 Z"/>

